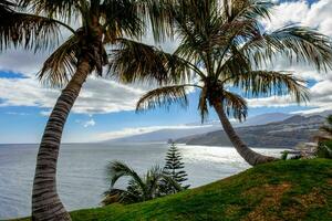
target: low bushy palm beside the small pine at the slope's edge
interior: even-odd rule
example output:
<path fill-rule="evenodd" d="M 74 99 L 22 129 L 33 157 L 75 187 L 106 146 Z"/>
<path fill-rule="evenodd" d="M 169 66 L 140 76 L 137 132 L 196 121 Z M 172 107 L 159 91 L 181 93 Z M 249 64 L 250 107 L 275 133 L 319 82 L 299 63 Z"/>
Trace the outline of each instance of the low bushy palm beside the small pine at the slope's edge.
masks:
<path fill-rule="evenodd" d="M 183 188 L 173 178 L 166 176 L 159 167 L 153 167 L 146 175 L 139 177 L 135 170 L 121 161 L 111 162 L 107 167 L 111 188 L 105 192 L 103 204 L 113 202 L 135 203 L 152 200 L 168 192 L 163 192 L 164 185 L 172 187 L 176 192 Z M 123 177 L 128 177 L 128 186 L 125 190 L 114 187 L 116 181 Z"/>

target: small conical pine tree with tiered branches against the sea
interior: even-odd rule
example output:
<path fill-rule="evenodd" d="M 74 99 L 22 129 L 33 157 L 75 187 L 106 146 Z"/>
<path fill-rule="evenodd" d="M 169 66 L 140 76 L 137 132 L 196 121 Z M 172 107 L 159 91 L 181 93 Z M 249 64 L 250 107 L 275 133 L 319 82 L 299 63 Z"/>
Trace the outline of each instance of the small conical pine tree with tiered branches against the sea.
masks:
<path fill-rule="evenodd" d="M 172 177 L 176 182 L 178 182 L 184 189 L 189 188 L 188 186 L 184 186 L 184 182 L 188 180 L 187 172 L 183 170 L 185 168 L 185 164 L 183 162 L 183 157 L 179 149 L 176 147 L 174 143 L 172 143 L 170 148 L 166 154 L 166 165 L 164 167 L 165 175 Z M 172 189 L 169 191 L 173 191 Z"/>

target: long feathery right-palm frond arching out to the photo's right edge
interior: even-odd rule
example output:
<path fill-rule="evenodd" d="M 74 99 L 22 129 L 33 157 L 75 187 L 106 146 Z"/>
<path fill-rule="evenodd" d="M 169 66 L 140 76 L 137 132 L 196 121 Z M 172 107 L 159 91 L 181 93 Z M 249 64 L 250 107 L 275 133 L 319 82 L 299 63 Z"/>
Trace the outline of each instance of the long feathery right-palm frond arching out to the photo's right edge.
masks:
<path fill-rule="evenodd" d="M 313 64 L 317 70 L 332 69 L 332 42 L 330 38 L 310 28 L 288 25 L 264 33 L 243 45 L 256 62 L 270 61 L 282 55 L 290 62 Z"/>

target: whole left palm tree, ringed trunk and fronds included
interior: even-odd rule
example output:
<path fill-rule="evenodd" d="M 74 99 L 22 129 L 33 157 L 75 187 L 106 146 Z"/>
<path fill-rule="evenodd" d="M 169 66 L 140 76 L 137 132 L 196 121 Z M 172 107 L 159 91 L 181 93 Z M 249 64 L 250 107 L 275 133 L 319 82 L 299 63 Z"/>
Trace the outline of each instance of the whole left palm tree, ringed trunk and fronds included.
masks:
<path fill-rule="evenodd" d="M 15 7 L 14 3 L 18 3 Z M 0 2 L 0 46 L 55 50 L 39 78 L 62 88 L 40 144 L 32 220 L 71 220 L 56 191 L 56 162 L 66 118 L 91 74 L 102 76 L 106 49 L 120 38 L 139 38 L 151 23 L 156 40 L 168 33 L 163 0 L 20 0 Z M 6 11 L 6 13 L 2 13 Z M 63 43 L 61 34 L 70 36 Z"/>

